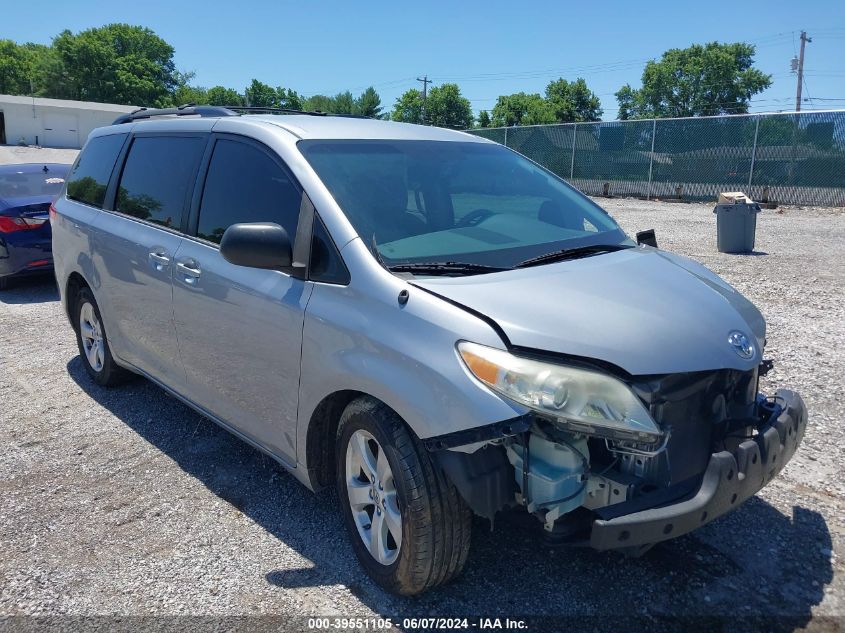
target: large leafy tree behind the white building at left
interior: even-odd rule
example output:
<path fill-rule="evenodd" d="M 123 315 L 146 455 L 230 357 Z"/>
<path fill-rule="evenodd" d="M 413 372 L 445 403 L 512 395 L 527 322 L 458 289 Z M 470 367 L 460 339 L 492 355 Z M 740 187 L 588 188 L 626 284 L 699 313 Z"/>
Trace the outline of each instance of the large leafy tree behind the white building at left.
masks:
<path fill-rule="evenodd" d="M 62 31 L 42 62 L 39 93 L 47 97 L 161 106 L 178 87 L 173 47 L 141 26 Z"/>

